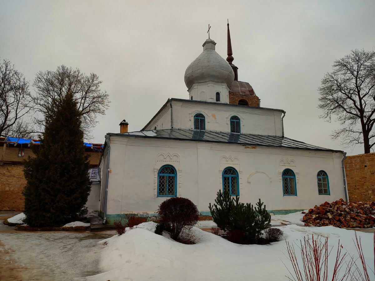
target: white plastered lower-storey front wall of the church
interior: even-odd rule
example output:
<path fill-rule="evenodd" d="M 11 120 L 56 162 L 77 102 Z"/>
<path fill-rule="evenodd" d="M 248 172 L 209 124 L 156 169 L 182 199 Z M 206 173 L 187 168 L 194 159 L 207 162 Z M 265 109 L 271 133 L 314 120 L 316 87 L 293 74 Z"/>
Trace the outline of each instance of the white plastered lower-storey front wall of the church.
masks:
<path fill-rule="evenodd" d="M 177 170 L 177 196 L 207 212 L 222 190 L 222 170 L 239 172 L 240 201 L 255 204 L 261 197 L 268 210 L 307 209 L 345 198 L 341 152 L 243 146 L 226 143 L 174 141 L 111 136 L 107 214 L 154 213 L 166 197 L 157 197 L 157 170 Z M 297 196 L 283 196 L 281 173 L 297 176 Z M 319 195 L 317 172 L 329 176 L 330 195 Z M 104 181 L 102 181 L 104 182 Z"/>

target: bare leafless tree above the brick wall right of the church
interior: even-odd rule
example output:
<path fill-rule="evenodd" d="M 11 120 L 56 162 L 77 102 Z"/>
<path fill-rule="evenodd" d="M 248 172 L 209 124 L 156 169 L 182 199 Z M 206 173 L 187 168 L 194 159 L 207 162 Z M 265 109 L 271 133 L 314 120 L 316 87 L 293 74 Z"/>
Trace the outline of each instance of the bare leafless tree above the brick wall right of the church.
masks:
<path fill-rule="evenodd" d="M 375 144 L 375 52 L 352 50 L 332 67 L 318 88 L 320 117 L 330 122 L 334 115 L 341 124 L 333 139 L 341 138 L 345 147 L 363 144 L 370 153 Z"/>

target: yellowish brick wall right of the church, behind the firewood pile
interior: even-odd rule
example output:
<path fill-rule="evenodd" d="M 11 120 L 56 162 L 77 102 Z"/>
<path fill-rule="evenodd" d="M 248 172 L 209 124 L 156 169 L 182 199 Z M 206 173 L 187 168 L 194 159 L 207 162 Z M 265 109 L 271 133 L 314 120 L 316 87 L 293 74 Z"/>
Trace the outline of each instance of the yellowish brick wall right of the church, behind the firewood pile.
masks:
<path fill-rule="evenodd" d="M 344 166 L 349 200 L 375 201 L 375 152 L 347 156 Z"/>

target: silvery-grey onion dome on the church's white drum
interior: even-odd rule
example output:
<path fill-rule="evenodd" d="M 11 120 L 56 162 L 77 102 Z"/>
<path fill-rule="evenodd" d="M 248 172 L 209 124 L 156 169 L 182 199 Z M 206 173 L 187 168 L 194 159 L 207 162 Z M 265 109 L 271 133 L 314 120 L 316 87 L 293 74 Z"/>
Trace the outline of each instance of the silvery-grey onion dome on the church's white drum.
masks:
<path fill-rule="evenodd" d="M 205 40 L 203 52 L 187 67 L 185 84 L 188 89 L 195 83 L 209 81 L 225 83 L 231 87 L 234 72 L 228 62 L 217 54 L 215 45 L 214 40 Z"/>

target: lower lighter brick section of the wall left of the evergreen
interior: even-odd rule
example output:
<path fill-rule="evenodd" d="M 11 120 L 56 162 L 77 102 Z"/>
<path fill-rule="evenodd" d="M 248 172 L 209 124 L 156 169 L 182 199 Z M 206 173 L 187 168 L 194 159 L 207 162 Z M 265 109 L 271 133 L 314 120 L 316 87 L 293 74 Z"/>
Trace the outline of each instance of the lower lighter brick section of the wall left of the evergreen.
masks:
<path fill-rule="evenodd" d="M 23 211 L 25 184 L 22 164 L 0 162 L 0 210 Z"/>

